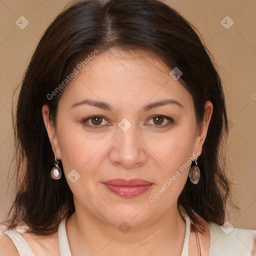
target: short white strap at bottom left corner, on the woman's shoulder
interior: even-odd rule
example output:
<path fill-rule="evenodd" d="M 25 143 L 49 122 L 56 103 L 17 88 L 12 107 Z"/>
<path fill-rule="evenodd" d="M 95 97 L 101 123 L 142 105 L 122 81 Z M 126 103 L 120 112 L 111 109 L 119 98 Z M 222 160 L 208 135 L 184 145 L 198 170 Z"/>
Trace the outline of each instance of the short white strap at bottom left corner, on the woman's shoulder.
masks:
<path fill-rule="evenodd" d="M 3 231 L 3 233 L 8 235 L 13 241 L 14 245 L 17 248 L 19 256 L 35 256 L 26 239 L 21 233 L 15 230 L 5 230 Z"/>

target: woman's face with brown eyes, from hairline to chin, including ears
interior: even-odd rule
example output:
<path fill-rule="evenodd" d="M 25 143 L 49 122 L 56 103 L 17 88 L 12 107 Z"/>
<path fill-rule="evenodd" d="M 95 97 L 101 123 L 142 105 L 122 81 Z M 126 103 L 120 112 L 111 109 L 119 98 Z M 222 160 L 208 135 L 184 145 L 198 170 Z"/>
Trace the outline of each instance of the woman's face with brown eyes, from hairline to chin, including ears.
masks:
<path fill-rule="evenodd" d="M 192 96 L 169 72 L 146 52 L 99 52 L 65 88 L 55 127 L 43 106 L 76 212 L 139 225 L 176 208 L 191 159 L 201 152 L 211 104 L 199 129 Z M 107 185 L 112 179 L 147 185 Z"/>

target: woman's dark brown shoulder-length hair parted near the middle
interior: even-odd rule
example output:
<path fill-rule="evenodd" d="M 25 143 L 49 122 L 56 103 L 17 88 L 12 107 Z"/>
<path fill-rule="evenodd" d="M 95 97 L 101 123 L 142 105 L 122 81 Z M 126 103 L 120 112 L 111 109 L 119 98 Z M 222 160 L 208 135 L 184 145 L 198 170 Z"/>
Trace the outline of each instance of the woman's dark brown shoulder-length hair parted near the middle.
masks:
<path fill-rule="evenodd" d="M 196 185 L 187 180 L 178 203 L 199 225 L 193 211 L 206 221 L 223 224 L 230 193 L 221 150 L 228 133 L 225 101 L 211 55 L 195 28 L 158 0 L 86 0 L 71 4 L 54 19 L 26 69 L 13 122 L 17 191 L 8 215 L 9 227 L 23 220 L 30 232 L 49 234 L 57 231 L 62 217 L 74 212 L 65 176 L 58 180 L 50 176 L 54 158 L 41 108 L 47 104 L 54 121 L 64 88 L 52 98 L 47 95 L 82 56 L 110 47 L 145 49 L 159 56 L 170 70 L 178 67 L 183 73 L 179 81 L 193 97 L 199 124 L 205 101 L 212 102 L 213 113 L 198 158 L 200 180 Z"/>

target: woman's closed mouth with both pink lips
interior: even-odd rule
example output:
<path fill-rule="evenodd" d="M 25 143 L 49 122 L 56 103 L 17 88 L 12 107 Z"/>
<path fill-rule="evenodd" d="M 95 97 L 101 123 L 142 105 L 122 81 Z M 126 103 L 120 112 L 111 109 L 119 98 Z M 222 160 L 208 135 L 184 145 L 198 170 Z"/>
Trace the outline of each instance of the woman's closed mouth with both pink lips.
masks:
<path fill-rule="evenodd" d="M 117 178 L 104 181 L 103 184 L 111 192 L 121 197 L 131 198 L 147 191 L 153 183 L 142 179 L 126 180 Z"/>

